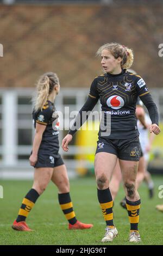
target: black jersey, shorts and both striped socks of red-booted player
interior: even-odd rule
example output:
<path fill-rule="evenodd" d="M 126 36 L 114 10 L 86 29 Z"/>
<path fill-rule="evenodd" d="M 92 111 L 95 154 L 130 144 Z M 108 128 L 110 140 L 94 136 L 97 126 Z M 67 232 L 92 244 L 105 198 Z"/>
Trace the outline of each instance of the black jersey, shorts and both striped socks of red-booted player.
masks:
<path fill-rule="evenodd" d="M 51 101 L 47 101 L 46 105 L 43 106 L 42 111 L 33 111 L 34 127 L 36 123 L 46 125 L 46 129 L 42 135 L 42 141 L 37 154 L 36 168 L 39 167 L 57 167 L 64 164 L 59 151 L 59 116 Z M 40 194 L 32 188 L 24 197 L 21 208 L 18 212 L 16 222 L 26 221 L 30 210 L 34 207 L 36 200 Z M 73 210 L 70 193 L 58 194 L 59 204 L 61 210 L 67 221 L 73 225 L 77 222 L 76 214 Z"/>

